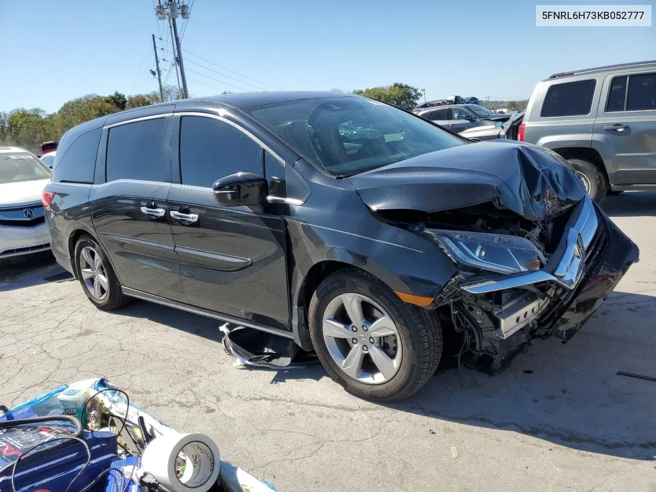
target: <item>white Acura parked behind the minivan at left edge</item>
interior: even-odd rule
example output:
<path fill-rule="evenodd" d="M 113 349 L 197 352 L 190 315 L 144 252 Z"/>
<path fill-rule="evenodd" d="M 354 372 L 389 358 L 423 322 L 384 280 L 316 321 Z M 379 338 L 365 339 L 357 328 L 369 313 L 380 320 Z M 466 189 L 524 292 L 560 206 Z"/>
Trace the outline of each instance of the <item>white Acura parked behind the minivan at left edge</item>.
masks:
<path fill-rule="evenodd" d="M 50 249 L 41 192 L 52 172 L 18 147 L 0 147 L 0 259 Z"/>

